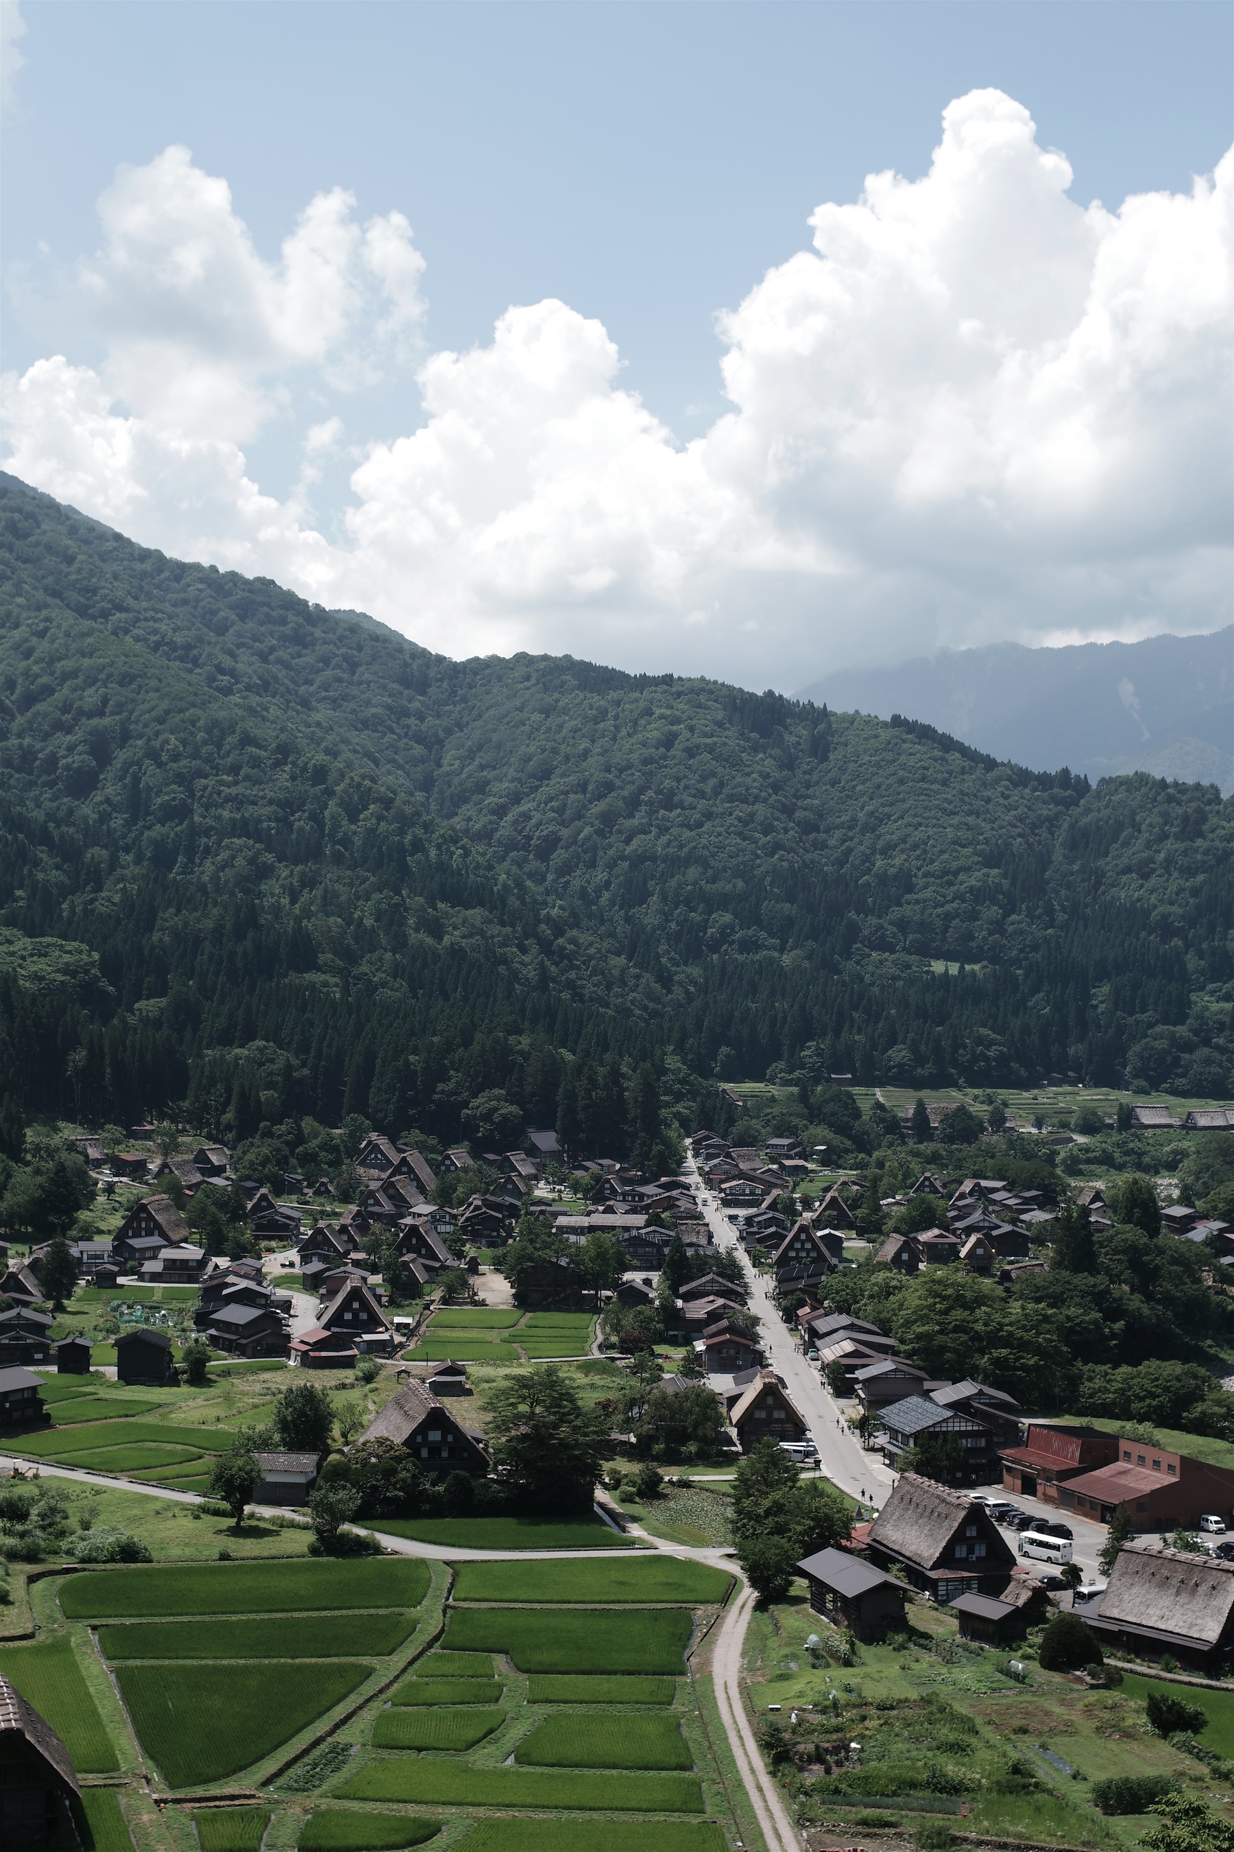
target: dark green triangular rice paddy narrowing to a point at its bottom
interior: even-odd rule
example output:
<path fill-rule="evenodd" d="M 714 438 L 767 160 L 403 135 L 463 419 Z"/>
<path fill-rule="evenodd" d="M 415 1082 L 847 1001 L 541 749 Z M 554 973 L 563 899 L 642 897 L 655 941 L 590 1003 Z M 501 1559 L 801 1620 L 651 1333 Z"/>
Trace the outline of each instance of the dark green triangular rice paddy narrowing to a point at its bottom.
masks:
<path fill-rule="evenodd" d="M 120 1665 L 137 1741 L 172 1787 L 218 1782 L 290 1741 L 340 1704 L 372 1665 Z"/>

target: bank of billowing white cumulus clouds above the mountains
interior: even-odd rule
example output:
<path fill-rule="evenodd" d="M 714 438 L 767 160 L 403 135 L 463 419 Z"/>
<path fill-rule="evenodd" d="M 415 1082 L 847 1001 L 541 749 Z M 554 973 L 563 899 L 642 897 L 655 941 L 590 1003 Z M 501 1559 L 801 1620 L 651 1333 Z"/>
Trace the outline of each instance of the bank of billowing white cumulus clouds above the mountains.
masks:
<path fill-rule="evenodd" d="M 67 352 L 7 382 L 7 467 L 450 654 L 792 687 L 932 643 L 1215 628 L 1234 156 L 1117 211 L 1069 185 L 1018 102 L 951 104 L 923 178 L 820 206 L 814 246 L 718 317 L 731 409 L 679 444 L 599 322 L 546 300 L 429 354 L 400 213 L 320 194 L 270 261 L 168 148 L 100 200 L 52 304 Z M 307 485 L 353 443 L 346 394 L 409 370 L 422 420 L 352 452 L 327 539 Z M 274 419 L 303 457 L 283 500 L 242 448 Z"/>

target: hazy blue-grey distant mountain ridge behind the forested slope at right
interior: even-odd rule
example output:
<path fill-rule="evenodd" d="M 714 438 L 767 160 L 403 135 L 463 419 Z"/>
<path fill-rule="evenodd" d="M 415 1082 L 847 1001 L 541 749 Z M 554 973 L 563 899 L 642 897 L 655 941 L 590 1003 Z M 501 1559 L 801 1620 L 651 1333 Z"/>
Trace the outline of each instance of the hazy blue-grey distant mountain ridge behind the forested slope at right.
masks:
<path fill-rule="evenodd" d="M 1099 778 L 1153 772 L 1234 791 L 1234 624 L 1204 637 L 940 650 L 821 676 L 797 700 L 927 720 L 999 759 Z"/>

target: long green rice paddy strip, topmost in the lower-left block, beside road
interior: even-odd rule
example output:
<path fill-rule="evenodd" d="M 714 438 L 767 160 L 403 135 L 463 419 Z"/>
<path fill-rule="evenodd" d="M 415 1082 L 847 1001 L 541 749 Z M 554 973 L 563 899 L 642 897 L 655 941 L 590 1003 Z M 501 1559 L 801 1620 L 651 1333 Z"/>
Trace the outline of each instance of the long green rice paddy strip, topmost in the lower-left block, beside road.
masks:
<path fill-rule="evenodd" d="M 65 1582 L 68 1620 L 87 1615 L 315 1613 L 335 1608 L 418 1608 L 429 1570 L 414 1558 L 359 1563 L 211 1563 L 96 1569 Z"/>

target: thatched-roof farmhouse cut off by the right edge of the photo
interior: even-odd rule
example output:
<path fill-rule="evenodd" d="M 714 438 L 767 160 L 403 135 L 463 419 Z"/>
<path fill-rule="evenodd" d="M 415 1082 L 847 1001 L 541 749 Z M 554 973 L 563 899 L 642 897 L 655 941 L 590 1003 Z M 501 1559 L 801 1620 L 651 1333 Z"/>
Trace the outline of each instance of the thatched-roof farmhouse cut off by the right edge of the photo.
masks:
<path fill-rule="evenodd" d="M 1127 1543 L 1084 1619 L 1108 1652 L 1167 1654 L 1212 1674 L 1234 1652 L 1234 1563 Z"/>

